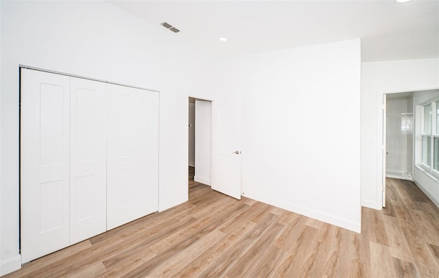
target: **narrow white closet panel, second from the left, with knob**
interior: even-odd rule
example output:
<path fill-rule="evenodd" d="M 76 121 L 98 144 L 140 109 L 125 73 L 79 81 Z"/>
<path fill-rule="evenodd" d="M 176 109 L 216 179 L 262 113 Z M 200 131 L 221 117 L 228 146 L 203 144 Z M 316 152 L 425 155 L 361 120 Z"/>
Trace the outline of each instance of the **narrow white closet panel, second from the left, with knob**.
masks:
<path fill-rule="evenodd" d="M 70 244 L 106 231 L 106 84 L 71 78 Z"/>

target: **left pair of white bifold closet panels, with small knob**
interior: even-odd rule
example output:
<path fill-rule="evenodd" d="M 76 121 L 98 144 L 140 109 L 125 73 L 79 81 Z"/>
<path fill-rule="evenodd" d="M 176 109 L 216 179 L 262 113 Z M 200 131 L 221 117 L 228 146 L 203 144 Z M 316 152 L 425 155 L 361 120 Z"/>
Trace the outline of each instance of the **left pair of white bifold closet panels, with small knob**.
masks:
<path fill-rule="evenodd" d="M 21 255 L 106 231 L 106 84 L 21 70 Z"/>

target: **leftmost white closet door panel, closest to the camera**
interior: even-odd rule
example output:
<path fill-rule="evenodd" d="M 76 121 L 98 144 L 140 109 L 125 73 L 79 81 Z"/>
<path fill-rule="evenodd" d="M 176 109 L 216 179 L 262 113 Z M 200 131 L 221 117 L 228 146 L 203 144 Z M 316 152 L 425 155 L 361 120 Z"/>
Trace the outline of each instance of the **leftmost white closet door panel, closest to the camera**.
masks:
<path fill-rule="evenodd" d="M 21 70 L 21 259 L 69 246 L 70 78 Z"/>

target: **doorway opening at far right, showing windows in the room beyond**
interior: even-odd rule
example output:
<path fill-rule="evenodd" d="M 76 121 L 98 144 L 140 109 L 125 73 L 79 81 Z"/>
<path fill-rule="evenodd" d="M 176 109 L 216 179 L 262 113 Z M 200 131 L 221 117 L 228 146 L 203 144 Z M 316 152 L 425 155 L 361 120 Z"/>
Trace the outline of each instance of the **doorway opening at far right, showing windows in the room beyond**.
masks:
<path fill-rule="evenodd" d="M 383 207 L 389 178 L 413 181 L 438 202 L 439 194 L 431 188 L 439 181 L 439 89 L 382 96 Z"/>

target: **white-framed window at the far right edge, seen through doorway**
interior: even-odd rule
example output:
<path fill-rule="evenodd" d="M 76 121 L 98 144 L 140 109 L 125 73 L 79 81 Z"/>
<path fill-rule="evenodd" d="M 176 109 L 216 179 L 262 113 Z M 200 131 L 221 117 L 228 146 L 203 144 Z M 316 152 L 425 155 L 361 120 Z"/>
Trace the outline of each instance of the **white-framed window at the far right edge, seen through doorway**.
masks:
<path fill-rule="evenodd" d="M 439 176 L 439 101 L 422 106 L 420 118 L 420 166 L 429 174 Z"/>

